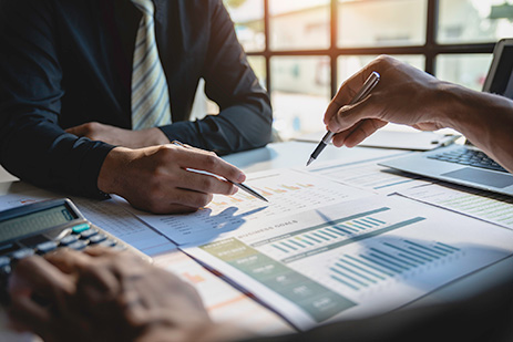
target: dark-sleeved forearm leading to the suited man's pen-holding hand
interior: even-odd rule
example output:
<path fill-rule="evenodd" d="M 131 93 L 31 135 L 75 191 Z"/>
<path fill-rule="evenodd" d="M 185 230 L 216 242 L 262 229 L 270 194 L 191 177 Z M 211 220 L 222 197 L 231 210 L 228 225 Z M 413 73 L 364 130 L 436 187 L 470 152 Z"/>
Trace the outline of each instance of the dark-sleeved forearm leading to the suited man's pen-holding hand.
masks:
<path fill-rule="evenodd" d="M 85 196 L 100 196 L 98 174 L 113 146 L 65 134 L 48 120 L 12 118 L 1 129 L 2 165 L 22 180 Z"/>

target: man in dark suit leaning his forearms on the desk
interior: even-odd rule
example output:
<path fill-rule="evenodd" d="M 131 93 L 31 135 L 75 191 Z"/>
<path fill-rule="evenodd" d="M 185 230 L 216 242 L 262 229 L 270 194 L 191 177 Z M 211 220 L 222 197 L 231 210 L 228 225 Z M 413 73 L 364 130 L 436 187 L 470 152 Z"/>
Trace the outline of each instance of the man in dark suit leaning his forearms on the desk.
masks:
<path fill-rule="evenodd" d="M 154 7 L 171 117 L 138 131 L 131 99 L 141 8 L 130 0 L 3 1 L 0 163 L 38 186 L 117 194 L 155 213 L 195 210 L 236 188 L 185 169 L 244 180 L 213 153 L 266 145 L 269 99 L 220 0 L 141 1 Z M 220 113 L 189 122 L 202 77 Z M 184 151 L 174 139 L 213 153 Z"/>

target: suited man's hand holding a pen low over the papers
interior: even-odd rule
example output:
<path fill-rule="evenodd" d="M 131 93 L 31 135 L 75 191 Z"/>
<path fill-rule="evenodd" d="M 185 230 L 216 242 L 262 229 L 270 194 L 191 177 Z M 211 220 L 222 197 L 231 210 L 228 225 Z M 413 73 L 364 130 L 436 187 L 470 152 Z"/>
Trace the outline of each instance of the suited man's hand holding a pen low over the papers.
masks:
<path fill-rule="evenodd" d="M 155 214 L 195 211 L 207 205 L 213 194 L 237 191 L 229 182 L 187 168 L 236 183 L 246 178 L 242 170 L 214 153 L 167 144 L 138 149 L 115 147 L 102 165 L 98 186 Z"/>

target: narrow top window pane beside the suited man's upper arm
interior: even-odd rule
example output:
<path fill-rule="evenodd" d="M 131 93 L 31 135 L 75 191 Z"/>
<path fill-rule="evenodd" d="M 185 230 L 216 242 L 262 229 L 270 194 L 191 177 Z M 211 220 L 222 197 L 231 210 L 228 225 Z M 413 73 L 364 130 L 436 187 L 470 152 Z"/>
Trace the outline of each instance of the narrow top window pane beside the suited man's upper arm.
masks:
<path fill-rule="evenodd" d="M 224 0 L 244 50 L 264 51 L 264 0 Z"/>

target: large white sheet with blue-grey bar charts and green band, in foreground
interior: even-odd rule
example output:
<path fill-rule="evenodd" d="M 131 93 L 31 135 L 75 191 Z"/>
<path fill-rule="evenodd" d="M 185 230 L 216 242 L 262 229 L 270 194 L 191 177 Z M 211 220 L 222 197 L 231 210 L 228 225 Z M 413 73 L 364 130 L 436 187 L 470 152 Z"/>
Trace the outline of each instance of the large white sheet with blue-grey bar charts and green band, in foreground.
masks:
<path fill-rule="evenodd" d="M 185 248 L 299 329 L 386 312 L 513 253 L 513 231 L 400 196 L 304 210 Z"/>

